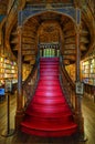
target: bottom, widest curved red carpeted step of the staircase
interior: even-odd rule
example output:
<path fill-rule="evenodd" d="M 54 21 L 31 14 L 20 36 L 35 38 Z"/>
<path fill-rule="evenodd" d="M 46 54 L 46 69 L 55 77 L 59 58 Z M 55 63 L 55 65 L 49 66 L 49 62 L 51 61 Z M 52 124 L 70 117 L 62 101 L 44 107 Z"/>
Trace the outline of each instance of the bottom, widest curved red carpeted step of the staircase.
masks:
<path fill-rule="evenodd" d="M 39 135 L 45 137 L 59 137 L 59 136 L 70 136 L 76 133 L 76 124 L 70 123 L 70 125 L 53 127 L 51 125 L 40 126 L 36 123 L 31 124 L 29 122 L 22 123 L 22 131 L 31 135 Z"/>

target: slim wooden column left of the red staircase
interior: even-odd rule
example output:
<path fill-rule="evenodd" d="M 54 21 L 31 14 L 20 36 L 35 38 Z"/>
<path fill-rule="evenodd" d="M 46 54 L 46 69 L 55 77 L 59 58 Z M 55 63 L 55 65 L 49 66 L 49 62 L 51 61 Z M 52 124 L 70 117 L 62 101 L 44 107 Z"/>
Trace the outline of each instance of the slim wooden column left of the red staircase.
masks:
<path fill-rule="evenodd" d="M 22 27 L 18 27 L 18 95 L 15 130 L 20 127 L 23 119 L 23 93 L 22 93 Z"/>

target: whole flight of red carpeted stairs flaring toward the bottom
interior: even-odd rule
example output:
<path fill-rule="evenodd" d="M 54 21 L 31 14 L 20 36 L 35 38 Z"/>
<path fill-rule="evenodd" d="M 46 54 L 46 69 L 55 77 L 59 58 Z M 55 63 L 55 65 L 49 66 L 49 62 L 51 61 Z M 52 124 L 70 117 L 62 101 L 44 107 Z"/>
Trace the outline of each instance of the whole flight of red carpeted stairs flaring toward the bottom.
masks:
<path fill-rule="evenodd" d="M 59 58 L 41 58 L 40 80 L 21 131 L 39 136 L 68 136 L 77 131 L 59 80 Z"/>

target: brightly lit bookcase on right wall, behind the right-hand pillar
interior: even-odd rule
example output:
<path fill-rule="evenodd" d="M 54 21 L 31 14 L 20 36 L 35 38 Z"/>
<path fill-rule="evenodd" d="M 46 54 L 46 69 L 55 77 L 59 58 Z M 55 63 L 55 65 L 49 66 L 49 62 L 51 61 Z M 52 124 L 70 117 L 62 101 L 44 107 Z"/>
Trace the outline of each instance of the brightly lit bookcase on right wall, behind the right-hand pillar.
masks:
<path fill-rule="evenodd" d="M 66 65 L 66 71 L 75 82 L 75 64 Z M 89 56 L 81 62 L 81 81 L 95 86 L 95 56 Z"/>

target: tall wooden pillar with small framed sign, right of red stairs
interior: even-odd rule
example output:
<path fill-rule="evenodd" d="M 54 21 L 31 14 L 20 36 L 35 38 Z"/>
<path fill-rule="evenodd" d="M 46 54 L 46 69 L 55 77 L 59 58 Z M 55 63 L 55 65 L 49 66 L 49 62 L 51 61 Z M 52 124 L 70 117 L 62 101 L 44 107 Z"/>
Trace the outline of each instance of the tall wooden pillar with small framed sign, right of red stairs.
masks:
<path fill-rule="evenodd" d="M 82 115 L 83 83 L 81 82 L 81 10 L 76 8 L 76 97 L 75 120 L 78 124 L 80 141 L 84 140 L 84 119 Z"/>

